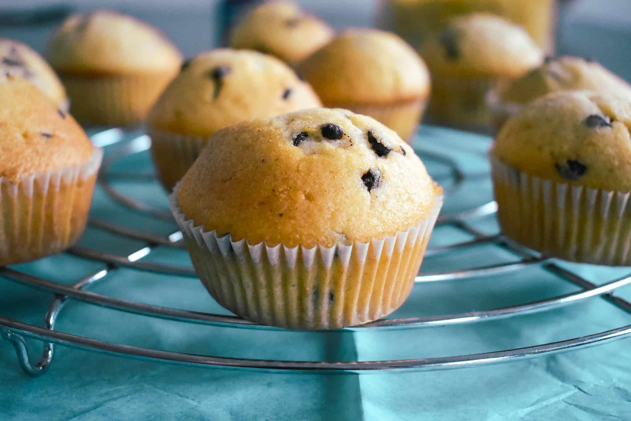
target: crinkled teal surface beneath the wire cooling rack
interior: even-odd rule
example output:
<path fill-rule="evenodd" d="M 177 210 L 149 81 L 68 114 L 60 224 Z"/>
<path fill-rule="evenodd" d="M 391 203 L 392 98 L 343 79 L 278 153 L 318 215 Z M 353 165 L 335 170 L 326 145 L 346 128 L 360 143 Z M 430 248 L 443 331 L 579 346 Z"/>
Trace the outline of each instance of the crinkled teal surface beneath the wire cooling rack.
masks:
<path fill-rule="evenodd" d="M 129 134 L 133 136 L 133 134 Z M 486 153 L 490 139 L 439 127 L 423 127 L 417 150 L 447 154 L 466 181 L 447 196 L 444 213 L 492 199 Z M 117 146 L 109 146 L 110 152 Z M 449 167 L 421 154 L 444 186 Z M 151 170 L 148 153 L 124 158 L 113 170 Z M 115 188 L 167 208 L 155 182 L 116 181 Z M 129 211 L 97 189 L 93 216 L 127 227 L 170 234 L 175 224 Z M 476 228 L 494 234 L 493 217 Z M 453 226 L 435 230 L 431 245 L 471 237 Z M 126 255 L 142 242 L 89 227 L 81 245 Z M 189 266 L 184 251 L 158 247 L 146 261 Z M 500 247 L 483 244 L 428 257 L 422 272 L 515 261 Z M 565 264 L 594 283 L 630 272 Z M 16 269 L 61 282 L 80 280 L 103 263 L 69 254 L 20 264 Z M 391 317 L 454 314 L 494 309 L 575 292 L 538 266 L 501 276 L 417 284 Z M 196 278 L 121 268 L 91 288 L 98 294 L 194 311 L 229 314 Z M 616 292 L 631 298 L 631 289 Z M 54 297 L 0 278 L 0 316 L 43 326 Z M 207 355 L 286 360 L 390 360 L 444 357 L 589 335 L 631 324 L 631 316 L 596 297 L 540 314 L 457 326 L 362 329 L 333 333 L 239 329 L 165 321 L 70 302 L 56 329 L 128 345 Z M 28 341 L 32 359 L 41 343 Z M 386 374 L 278 374 L 157 364 L 57 347 L 49 372 L 31 378 L 11 345 L 0 341 L 0 419 L 10 420 L 624 420 L 631 419 L 631 353 L 627 340 L 501 365 Z"/>

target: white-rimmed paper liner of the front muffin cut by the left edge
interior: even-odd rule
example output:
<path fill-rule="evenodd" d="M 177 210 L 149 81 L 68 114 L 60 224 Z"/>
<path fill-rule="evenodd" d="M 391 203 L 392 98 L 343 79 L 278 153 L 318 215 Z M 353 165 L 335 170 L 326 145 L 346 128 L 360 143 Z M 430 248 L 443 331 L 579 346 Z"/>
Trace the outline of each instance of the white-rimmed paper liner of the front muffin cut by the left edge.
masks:
<path fill-rule="evenodd" d="M 0 266 L 62 251 L 83 233 L 103 151 L 81 165 L 0 177 Z"/>

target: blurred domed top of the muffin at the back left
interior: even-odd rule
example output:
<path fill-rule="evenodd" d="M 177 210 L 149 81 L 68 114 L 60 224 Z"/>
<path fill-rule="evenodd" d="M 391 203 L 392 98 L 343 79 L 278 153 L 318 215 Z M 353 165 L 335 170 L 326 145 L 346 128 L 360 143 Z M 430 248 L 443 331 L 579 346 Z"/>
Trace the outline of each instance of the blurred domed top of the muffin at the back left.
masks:
<path fill-rule="evenodd" d="M 157 28 L 105 10 L 69 16 L 52 34 L 45 56 L 57 71 L 96 75 L 172 72 L 182 61 Z"/>

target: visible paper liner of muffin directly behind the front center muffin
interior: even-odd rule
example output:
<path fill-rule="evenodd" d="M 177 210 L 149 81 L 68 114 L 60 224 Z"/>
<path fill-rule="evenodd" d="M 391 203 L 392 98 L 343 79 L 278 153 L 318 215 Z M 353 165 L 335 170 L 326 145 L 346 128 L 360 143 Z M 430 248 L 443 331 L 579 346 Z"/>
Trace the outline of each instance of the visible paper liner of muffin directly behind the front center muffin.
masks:
<path fill-rule="evenodd" d="M 146 128 L 146 133 L 151 138 L 151 157 L 158 177 L 168 192 L 184 177 L 210 139 L 210 136 L 187 136 L 151 127 Z"/>

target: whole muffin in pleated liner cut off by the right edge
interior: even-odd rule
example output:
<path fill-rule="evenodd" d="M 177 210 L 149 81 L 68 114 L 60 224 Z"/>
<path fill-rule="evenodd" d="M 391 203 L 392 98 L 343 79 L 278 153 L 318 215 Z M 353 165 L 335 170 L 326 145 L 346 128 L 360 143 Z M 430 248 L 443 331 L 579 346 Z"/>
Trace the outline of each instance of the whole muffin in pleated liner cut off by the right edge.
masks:
<path fill-rule="evenodd" d="M 562 91 L 509 119 L 490 152 L 502 232 L 546 256 L 631 264 L 631 99 Z"/>

